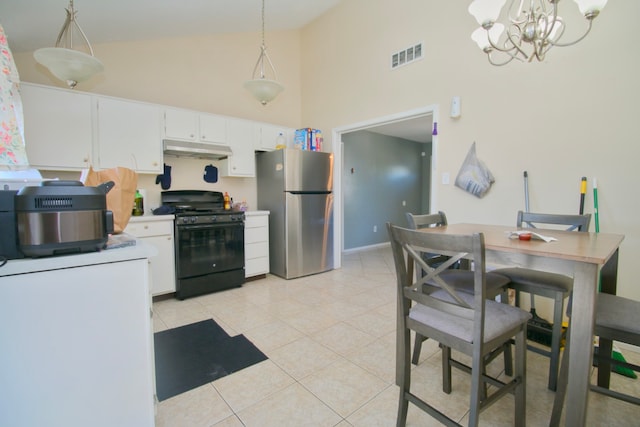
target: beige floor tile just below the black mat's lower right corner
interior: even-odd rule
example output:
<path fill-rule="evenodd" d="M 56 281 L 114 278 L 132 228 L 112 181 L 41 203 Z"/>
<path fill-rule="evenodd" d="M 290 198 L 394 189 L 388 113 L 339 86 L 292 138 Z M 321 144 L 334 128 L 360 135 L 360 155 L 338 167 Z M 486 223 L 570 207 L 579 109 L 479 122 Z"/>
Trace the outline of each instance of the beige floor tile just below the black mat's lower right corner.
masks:
<path fill-rule="evenodd" d="M 272 361 L 265 360 L 222 377 L 214 381 L 213 386 L 237 413 L 293 382 L 294 379 Z"/>

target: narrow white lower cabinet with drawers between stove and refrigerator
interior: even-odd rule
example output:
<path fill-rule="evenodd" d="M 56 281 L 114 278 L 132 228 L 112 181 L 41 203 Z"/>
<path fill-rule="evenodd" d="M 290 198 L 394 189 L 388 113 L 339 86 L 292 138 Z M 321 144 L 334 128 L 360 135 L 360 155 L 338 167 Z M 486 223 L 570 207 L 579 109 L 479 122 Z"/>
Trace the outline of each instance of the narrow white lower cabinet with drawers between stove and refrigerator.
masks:
<path fill-rule="evenodd" d="M 269 272 L 269 212 L 246 212 L 245 215 L 245 277 L 267 274 Z"/>

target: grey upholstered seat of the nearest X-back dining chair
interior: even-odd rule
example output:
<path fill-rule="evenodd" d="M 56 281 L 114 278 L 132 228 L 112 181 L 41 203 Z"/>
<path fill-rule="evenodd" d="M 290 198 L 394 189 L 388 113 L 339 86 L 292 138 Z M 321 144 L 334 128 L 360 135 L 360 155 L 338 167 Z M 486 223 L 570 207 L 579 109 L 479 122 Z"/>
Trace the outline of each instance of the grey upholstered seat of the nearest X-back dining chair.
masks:
<path fill-rule="evenodd" d="M 453 298 L 448 292 L 438 290 L 431 294 L 433 297 L 443 301 L 452 302 Z M 467 304 L 473 306 L 474 296 L 468 293 L 458 294 Z M 526 323 L 531 319 L 531 314 L 508 304 L 487 300 L 485 312 L 485 342 L 491 341 L 500 335 L 512 330 L 514 325 Z M 466 342 L 473 342 L 473 320 L 462 319 L 442 311 L 432 309 L 422 304 L 416 304 L 409 312 L 409 318 L 432 326 L 453 335 Z"/>

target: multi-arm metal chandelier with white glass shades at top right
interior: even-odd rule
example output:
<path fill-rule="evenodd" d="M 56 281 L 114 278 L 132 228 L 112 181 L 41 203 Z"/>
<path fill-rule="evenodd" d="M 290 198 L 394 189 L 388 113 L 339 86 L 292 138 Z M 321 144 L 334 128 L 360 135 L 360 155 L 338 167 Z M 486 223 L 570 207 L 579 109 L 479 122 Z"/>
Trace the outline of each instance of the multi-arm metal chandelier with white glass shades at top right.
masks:
<path fill-rule="evenodd" d="M 471 34 L 493 65 L 505 65 L 514 59 L 531 62 L 544 60 L 553 46 L 571 46 L 584 39 L 593 20 L 607 4 L 607 0 L 574 0 L 587 20 L 587 29 L 576 40 L 562 38 L 565 23 L 558 16 L 560 0 L 510 0 L 505 10 L 506 27 L 497 22 L 507 0 L 474 0 L 469 5 L 480 28 Z M 499 58 L 496 58 L 498 56 Z"/>

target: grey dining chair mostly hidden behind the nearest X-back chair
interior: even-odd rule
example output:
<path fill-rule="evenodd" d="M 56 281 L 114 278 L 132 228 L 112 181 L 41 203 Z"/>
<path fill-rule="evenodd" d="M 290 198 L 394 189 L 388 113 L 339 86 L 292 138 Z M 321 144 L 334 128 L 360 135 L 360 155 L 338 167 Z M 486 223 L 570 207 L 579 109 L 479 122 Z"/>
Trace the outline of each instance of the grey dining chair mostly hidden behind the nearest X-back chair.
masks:
<path fill-rule="evenodd" d="M 406 213 L 407 223 L 409 224 L 409 228 L 412 230 L 420 230 L 423 228 L 431 228 L 431 227 L 442 227 L 447 225 L 447 215 L 443 211 L 438 211 L 438 213 L 434 214 L 412 214 L 411 212 Z M 438 267 L 443 262 L 447 261 L 450 257 L 442 254 L 433 254 L 423 252 L 421 254 L 422 259 L 427 263 L 430 267 Z M 443 277 L 446 277 L 447 283 L 451 286 L 464 291 L 473 293 L 473 274 L 469 273 L 469 265 L 467 260 L 457 261 L 449 266 L 449 270 L 461 270 L 462 271 L 447 271 L 443 273 Z M 424 272 L 421 268 L 416 267 L 416 279 L 420 279 L 424 276 Z M 488 298 L 495 298 L 497 295 L 501 295 L 501 301 L 505 301 L 507 298 L 507 286 L 509 284 L 509 279 L 505 276 L 501 276 L 495 273 L 487 273 L 487 295 Z M 428 281 L 425 286 L 437 286 L 437 283 L 434 281 Z M 415 341 L 413 345 L 413 356 L 411 358 L 411 363 L 414 365 L 418 364 L 420 359 L 420 352 L 422 350 L 422 343 L 426 340 L 425 337 L 416 333 Z M 506 375 L 513 375 L 513 361 L 511 358 L 511 348 L 509 345 L 506 345 L 502 351 L 504 352 L 504 369 Z M 498 356 L 500 351 L 496 351 L 490 355 L 486 364 L 489 364 L 496 356 Z M 450 383 L 450 378 L 447 381 L 445 378 L 445 383 Z"/>

